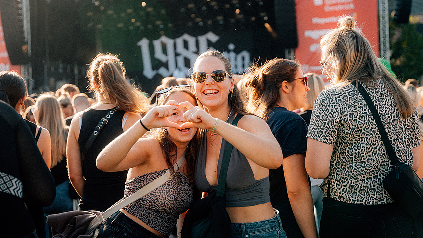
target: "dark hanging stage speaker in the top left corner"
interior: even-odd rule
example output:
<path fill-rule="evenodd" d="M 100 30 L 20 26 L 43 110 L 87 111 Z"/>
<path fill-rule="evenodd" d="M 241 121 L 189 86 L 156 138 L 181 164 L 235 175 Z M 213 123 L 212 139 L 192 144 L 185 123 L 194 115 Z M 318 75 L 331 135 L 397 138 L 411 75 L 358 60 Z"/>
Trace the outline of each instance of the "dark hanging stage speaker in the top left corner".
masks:
<path fill-rule="evenodd" d="M 23 3 L 21 0 L 0 0 L 1 22 L 7 52 L 13 65 L 28 62 L 28 43 L 24 37 Z"/>

